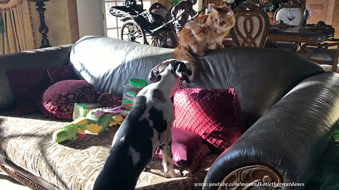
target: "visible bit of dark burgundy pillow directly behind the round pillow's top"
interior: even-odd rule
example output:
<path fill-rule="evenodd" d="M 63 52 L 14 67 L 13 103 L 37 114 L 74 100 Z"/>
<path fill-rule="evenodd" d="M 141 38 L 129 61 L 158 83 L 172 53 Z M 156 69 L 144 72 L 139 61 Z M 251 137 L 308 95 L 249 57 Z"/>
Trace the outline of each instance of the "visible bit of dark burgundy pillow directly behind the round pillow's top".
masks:
<path fill-rule="evenodd" d="M 65 65 L 60 68 L 47 68 L 47 75 L 52 84 L 61 80 L 74 79 L 72 65 Z"/>

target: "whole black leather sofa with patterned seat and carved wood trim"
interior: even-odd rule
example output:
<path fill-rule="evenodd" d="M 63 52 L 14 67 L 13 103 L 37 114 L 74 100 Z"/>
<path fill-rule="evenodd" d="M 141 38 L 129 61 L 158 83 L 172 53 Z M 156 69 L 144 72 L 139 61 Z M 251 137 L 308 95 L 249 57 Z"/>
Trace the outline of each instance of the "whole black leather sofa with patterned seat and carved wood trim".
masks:
<path fill-rule="evenodd" d="M 22 164 L 19 160 L 21 155 L 18 155 L 20 151 L 11 151 L 11 147 L 18 146 L 20 149 L 20 142 L 25 144 L 28 141 L 8 141 L 13 135 L 11 131 L 20 130 L 20 127 L 38 128 L 53 124 L 42 140 L 48 144 L 47 148 L 54 148 L 56 151 L 65 148 L 62 151 L 66 152 L 66 148 L 74 148 L 84 142 L 73 141 L 66 147 L 52 143 L 52 132 L 58 129 L 55 124 L 58 121 L 44 119 L 41 113 L 13 117 L 11 110 L 15 99 L 6 78 L 7 70 L 57 68 L 72 64 L 78 77 L 93 84 L 96 91 L 112 90 L 113 94 L 121 96 L 123 86 L 131 76 L 147 79 L 151 68 L 172 58 L 172 52 L 173 49 L 88 36 L 73 46 L 0 56 L 0 81 L 3 86 L 0 92 L 0 168 L 8 170 L 7 172 L 17 178 L 20 176 L 33 189 L 49 189 L 51 185 L 54 189 L 91 189 L 100 172 L 100 165 L 105 162 L 109 140 L 114 136 L 114 133 L 107 132 L 102 137 L 93 137 L 97 141 L 103 137 L 108 139 L 107 144 L 103 143 L 105 146 L 95 144 L 98 146 L 97 151 L 107 153 L 100 158 L 96 158 L 97 155 L 93 153 L 86 154 L 88 158 L 98 159 L 97 165 L 89 165 L 88 167 L 93 167 L 91 177 L 79 179 L 80 181 L 66 181 L 64 176 L 77 177 L 83 175 L 83 171 L 75 170 L 74 174 L 69 174 L 58 170 L 60 165 L 70 164 L 71 161 L 52 162 L 51 160 L 57 159 L 55 155 L 48 155 L 41 147 L 32 152 L 35 155 L 43 154 L 46 163 L 35 163 L 34 159 L 29 160 L 30 157 L 26 157 L 26 163 L 37 166 Z M 194 85 L 190 87 L 234 88 L 239 96 L 246 132 L 227 151 L 213 160 L 207 175 L 206 172 L 202 173 L 204 181 L 190 179 L 179 182 L 182 179 L 178 179 L 149 184 L 149 187 L 137 185 L 137 188 L 154 189 L 162 186 L 170 189 L 175 186 L 179 189 L 218 189 L 218 185 L 227 185 L 228 188 L 238 185 L 236 189 L 244 189 L 244 184 L 255 186 L 250 183 L 267 182 L 263 186 L 257 184 L 256 187 L 304 189 L 339 119 L 339 75 L 324 72 L 316 63 L 295 53 L 276 49 L 227 48 L 208 51 L 206 56 L 198 59 L 201 61 L 201 72 L 196 74 Z M 31 118 L 35 118 L 35 123 L 39 120 L 39 125 L 26 126 L 27 122 L 16 122 Z M 37 145 L 30 145 L 32 149 L 35 146 Z M 84 150 L 72 149 L 67 153 L 76 155 L 78 151 Z M 62 156 L 60 154 L 57 160 L 62 160 Z M 11 170 L 6 165 L 11 165 Z M 39 165 L 47 165 L 48 168 L 40 168 Z M 178 182 L 182 184 L 178 185 Z M 197 186 L 193 183 L 203 184 Z"/>

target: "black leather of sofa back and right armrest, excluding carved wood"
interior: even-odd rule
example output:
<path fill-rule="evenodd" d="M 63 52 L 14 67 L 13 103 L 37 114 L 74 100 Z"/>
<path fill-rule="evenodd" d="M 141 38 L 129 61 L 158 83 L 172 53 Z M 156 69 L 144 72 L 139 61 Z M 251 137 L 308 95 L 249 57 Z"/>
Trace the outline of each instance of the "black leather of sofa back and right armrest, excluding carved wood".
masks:
<path fill-rule="evenodd" d="M 85 37 L 73 47 L 71 63 L 97 90 L 121 96 L 130 78 L 147 79 L 172 52 Z M 205 182 L 221 182 L 233 170 L 257 164 L 276 170 L 283 182 L 307 182 L 339 120 L 339 75 L 278 49 L 227 48 L 198 60 L 201 72 L 191 87 L 234 88 L 249 128 L 213 163 Z"/>

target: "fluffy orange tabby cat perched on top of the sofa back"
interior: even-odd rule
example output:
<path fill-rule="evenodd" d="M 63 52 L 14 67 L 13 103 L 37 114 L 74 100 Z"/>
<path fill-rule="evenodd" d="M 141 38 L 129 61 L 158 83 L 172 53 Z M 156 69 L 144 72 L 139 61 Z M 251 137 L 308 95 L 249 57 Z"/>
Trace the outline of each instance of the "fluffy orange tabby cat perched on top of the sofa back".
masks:
<path fill-rule="evenodd" d="M 211 13 L 194 18 L 180 30 L 174 58 L 189 61 L 196 68 L 198 61 L 194 56 L 203 56 L 208 49 L 222 49 L 222 40 L 234 24 L 234 13 L 226 6 L 214 7 Z"/>

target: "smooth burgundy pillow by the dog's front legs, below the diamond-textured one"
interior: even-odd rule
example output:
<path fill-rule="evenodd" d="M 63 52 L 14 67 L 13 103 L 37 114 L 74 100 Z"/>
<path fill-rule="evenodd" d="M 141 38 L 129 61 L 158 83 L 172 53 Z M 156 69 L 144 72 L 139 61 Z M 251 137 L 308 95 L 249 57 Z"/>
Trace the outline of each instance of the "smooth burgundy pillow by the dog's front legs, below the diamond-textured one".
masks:
<path fill-rule="evenodd" d="M 194 132 L 174 127 L 171 130 L 174 165 L 186 167 L 190 173 L 194 172 L 203 157 L 210 152 L 210 148 Z M 153 158 L 162 159 L 159 147 L 157 147 Z"/>

